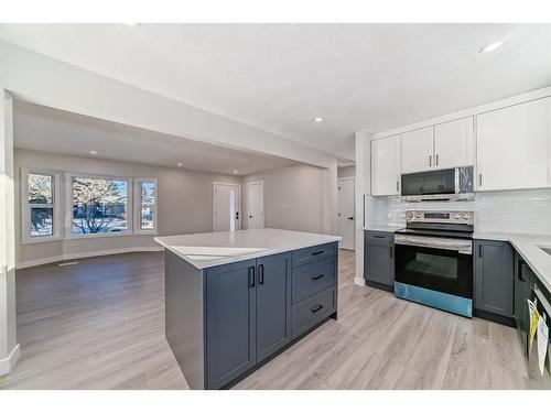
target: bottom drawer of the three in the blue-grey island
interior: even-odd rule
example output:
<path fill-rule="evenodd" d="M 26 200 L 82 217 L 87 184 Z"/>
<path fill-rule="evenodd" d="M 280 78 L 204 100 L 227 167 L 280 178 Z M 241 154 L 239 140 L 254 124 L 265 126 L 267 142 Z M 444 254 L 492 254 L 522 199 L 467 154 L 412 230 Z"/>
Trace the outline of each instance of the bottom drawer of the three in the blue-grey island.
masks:
<path fill-rule="evenodd" d="M 332 285 L 292 306 L 292 338 L 299 337 L 335 312 L 336 286 Z"/>

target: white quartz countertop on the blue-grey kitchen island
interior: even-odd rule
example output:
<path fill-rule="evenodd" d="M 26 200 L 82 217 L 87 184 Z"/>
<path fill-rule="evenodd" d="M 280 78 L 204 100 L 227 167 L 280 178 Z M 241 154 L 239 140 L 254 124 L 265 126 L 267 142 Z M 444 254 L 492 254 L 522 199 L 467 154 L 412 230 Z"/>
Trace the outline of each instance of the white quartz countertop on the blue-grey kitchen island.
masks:
<path fill-rule="evenodd" d="M 155 237 L 158 243 L 197 269 L 336 242 L 341 239 L 323 233 L 273 228 Z"/>

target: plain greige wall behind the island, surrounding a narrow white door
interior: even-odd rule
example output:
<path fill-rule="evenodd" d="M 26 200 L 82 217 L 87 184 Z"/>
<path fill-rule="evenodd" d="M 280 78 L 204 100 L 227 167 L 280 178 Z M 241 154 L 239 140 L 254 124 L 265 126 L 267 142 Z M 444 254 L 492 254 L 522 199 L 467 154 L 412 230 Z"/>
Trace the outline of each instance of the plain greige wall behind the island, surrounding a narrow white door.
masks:
<path fill-rule="evenodd" d="M 335 215 L 336 203 L 325 205 L 325 192 L 329 191 L 329 177 L 325 169 L 310 165 L 292 165 L 245 176 L 242 180 L 242 216 L 247 218 L 248 185 L 264 183 L 264 226 L 307 232 L 334 233 L 327 224 L 324 209 Z M 336 187 L 336 176 L 334 185 Z M 247 227 L 247 219 L 244 219 Z"/>

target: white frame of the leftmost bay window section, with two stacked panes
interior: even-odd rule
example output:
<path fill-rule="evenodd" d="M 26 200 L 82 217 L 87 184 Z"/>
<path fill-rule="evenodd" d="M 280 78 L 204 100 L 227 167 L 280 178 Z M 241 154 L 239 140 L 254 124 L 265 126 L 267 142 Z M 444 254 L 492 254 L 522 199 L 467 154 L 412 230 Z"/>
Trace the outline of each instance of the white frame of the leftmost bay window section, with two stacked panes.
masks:
<path fill-rule="evenodd" d="M 29 203 L 29 174 L 52 176 L 52 204 Z M 37 167 L 21 167 L 21 243 L 40 243 L 63 240 L 62 230 L 62 172 Z M 52 235 L 31 236 L 31 210 L 32 208 L 52 208 Z"/>

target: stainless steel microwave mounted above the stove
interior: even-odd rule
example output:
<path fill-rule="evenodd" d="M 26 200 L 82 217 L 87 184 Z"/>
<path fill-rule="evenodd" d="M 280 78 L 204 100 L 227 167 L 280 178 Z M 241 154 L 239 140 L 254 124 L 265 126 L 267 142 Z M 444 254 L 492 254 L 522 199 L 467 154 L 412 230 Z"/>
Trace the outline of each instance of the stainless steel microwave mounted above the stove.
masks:
<path fill-rule="evenodd" d="M 408 202 L 473 200 L 473 166 L 403 174 L 401 196 Z"/>

